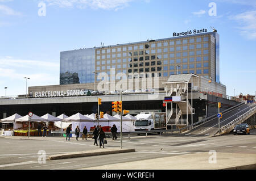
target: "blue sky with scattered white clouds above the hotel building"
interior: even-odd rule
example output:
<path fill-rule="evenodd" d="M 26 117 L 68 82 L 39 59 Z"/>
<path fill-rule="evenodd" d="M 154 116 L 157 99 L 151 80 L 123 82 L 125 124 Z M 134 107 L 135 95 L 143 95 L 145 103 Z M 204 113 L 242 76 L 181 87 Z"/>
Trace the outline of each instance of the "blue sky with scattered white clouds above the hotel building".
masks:
<path fill-rule="evenodd" d="M 254 0 L 0 0 L 0 96 L 26 94 L 24 77 L 27 86 L 59 85 L 61 51 L 210 27 L 226 94 L 255 95 Z"/>

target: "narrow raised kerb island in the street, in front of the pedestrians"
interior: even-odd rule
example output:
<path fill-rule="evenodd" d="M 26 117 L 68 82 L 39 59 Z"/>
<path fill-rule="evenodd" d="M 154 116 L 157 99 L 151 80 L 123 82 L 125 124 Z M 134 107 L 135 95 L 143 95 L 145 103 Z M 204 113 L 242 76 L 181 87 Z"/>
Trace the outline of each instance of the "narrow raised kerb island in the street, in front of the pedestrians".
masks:
<path fill-rule="evenodd" d="M 90 157 L 97 155 L 115 154 L 115 153 L 129 153 L 135 152 L 135 149 L 112 149 L 112 150 L 89 150 L 89 151 L 77 151 L 73 153 L 57 154 L 49 156 L 49 160 L 55 159 L 67 159 L 67 158 L 78 158 L 78 157 Z"/>

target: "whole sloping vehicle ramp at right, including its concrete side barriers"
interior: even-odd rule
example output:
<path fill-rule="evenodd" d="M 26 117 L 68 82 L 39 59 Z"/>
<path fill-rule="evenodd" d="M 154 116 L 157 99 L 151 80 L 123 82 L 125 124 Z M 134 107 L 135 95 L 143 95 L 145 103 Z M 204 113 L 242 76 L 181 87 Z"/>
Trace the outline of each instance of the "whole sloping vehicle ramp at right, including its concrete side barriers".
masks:
<path fill-rule="evenodd" d="M 238 104 L 222 113 L 220 119 L 221 134 L 229 133 L 237 124 L 243 123 L 249 117 L 256 113 L 256 104 Z M 196 123 L 200 124 L 200 122 Z M 203 124 L 193 127 L 189 131 L 184 132 L 186 136 L 214 136 L 218 134 L 218 118 L 217 114 L 210 116 Z"/>

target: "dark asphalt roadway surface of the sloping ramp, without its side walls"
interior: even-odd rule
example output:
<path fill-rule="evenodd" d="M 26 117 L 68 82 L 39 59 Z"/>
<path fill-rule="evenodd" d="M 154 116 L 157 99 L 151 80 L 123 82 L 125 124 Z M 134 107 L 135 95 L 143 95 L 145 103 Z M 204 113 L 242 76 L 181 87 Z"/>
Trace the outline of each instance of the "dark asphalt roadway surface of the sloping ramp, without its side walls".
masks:
<path fill-rule="evenodd" d="M 237 117 L 243 115 L 243 113 L 250 110 L 250 108 L 255 107 L 256 104 L 242 104 L 237 108 L 234 108 L 231 111 L 222 114 L 222 118 L 220 119 L 220 127 L 230 123 Z M 209 136 L 214 136 L 214 134 L 218 131 L 218 118 L 213 118 L 209 120 L 207 123 L 202 124 L 196 128 L 191 129 L 188 132 L 185 132 L 185 135 L 189 136 L 204 136 L 205 134 L 209 134 Z"/>

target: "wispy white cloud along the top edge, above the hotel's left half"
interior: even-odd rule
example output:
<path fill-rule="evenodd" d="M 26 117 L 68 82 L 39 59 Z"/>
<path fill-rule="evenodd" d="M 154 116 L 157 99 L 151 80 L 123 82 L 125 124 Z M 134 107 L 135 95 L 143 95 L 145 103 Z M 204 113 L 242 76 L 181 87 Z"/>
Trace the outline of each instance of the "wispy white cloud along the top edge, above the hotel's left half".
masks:
<path fill-rule="evenodd" d="M 49 6 L 59 7 L 77 7 L 84 9 L 90 7 L 92 9 L 118 10 L 129 6 L 129 2 L 134 0 L 44 0 Z M 143 0 L 149 3 L 150 0 Z"/>

